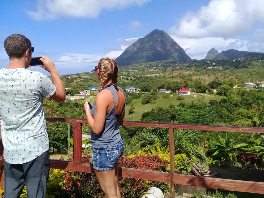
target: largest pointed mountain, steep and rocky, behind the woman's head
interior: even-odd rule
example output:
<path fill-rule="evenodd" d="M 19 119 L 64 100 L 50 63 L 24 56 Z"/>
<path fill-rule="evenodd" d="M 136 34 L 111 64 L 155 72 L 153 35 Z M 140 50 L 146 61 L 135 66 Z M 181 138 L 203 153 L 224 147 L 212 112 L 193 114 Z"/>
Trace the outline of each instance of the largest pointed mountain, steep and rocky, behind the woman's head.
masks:
<path fill-rule="evenodd" d="M 118 66 L 161 60 L 188 61 L 191 58 L 173 38 L 163 30 L 158 29 L 138 39 L 115 59 Z"/>

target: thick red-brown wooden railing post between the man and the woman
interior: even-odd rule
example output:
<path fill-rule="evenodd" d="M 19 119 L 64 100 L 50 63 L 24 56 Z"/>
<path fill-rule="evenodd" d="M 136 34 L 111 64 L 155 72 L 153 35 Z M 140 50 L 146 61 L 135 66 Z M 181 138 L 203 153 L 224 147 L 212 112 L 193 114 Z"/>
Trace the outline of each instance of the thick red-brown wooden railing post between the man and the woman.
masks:
<path fill-rule="evenodd" d="M 82 124 L 73 123 L 73 163 L 82 162 Z"/>

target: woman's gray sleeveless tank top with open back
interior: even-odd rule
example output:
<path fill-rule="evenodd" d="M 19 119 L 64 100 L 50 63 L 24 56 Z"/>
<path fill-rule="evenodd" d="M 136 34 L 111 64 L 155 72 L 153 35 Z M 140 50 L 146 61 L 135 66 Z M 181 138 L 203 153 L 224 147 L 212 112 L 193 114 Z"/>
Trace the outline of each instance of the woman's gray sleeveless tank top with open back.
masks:
<path fill-rule="evenodd" d="M 118 87 L 119 90 L 123 91 L 122 88 Z M 113 98 L 114 98 L 114 105 L 112 107 L 112 109 L 106 114 L 106 121 L 105 121 L 105 125 L 103 127 L 102 132 L 99 135 L 96 135 L 93 133 L 93 131 L 91 130 L 91 143 L 92 143 L 92 147 L 94 149 L 98 149 L 98 148 L 102 148 L 102 147 L 106 147 L 106 146 L 111 146 L 113 144 L 118 143 L 121 140 L 121 136 L 119 133 L 119 119 L 116 118 L 116 116 L 118 117 L 122 117 L 122 114 L 124 112 L 124 109 L 122 111 L 122 113 L 120 115 L 116 115 L 115 114 L 115 102 L 116 102 L 116 89 L 113 86 L 110 87 L 105 87 L 104 89 L 109 89 L 111 91 L 111 93 L 113 94 Z M 124 91 L 123 91 L 124 93 Z M 124 93 L 125 94 L 125 93 Z M 94 114 L 95 114 L 95 109 L 96 109 L 96 102 L 93 105 L 93 108 L 91 110 L 91 114 L 94 118 Z"/>

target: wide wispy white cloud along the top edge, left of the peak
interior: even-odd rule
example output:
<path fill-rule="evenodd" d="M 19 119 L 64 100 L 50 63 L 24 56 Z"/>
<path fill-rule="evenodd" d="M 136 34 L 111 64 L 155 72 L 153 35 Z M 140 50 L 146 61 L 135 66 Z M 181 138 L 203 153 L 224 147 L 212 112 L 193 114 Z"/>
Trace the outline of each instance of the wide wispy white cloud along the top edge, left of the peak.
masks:
<path fill-rule="evenodd" d="M 60 16 L 96 18 L 102 10 L 141 6 L 151 0 L 38 0 L 37 10 L 28 11 L 35 20 L 56 19 Z"/>

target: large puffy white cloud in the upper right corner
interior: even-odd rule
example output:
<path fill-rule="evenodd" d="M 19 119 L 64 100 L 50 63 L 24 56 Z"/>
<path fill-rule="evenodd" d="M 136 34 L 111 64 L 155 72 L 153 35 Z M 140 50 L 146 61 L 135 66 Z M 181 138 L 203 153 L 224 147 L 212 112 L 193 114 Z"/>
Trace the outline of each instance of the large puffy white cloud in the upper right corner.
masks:
<path fill-rule="evenodd" d="M 189 38 L 244 35 L 256 22 L 264 22 L 263 7 L 263 0 L 212 0 L 198 12 L 186 13 L 169 33 Z"/>

